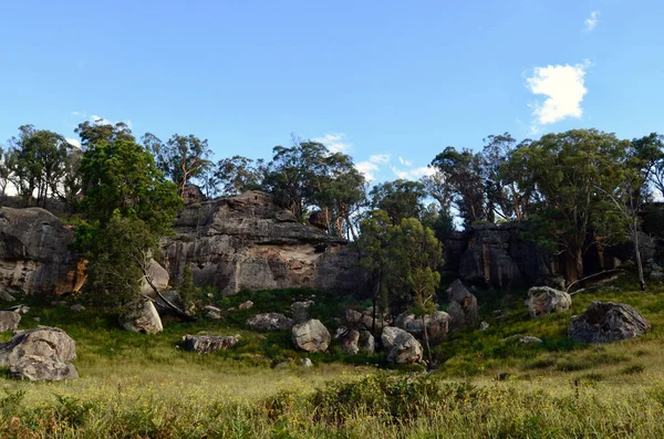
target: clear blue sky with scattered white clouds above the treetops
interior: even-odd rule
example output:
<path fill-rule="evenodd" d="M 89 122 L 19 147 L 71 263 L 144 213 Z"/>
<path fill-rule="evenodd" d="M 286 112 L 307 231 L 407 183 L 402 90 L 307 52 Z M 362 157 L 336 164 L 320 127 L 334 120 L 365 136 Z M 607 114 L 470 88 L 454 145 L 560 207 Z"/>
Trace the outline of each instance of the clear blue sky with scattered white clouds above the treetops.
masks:
<path fill-rule="evenodd" d="M 295 133 L 391 180 L 490 134 L 632 138 L 664 132 L 663 19 L 618 0 L 0 0 L 0 143 L 98 116 L 269 158 Z"/>

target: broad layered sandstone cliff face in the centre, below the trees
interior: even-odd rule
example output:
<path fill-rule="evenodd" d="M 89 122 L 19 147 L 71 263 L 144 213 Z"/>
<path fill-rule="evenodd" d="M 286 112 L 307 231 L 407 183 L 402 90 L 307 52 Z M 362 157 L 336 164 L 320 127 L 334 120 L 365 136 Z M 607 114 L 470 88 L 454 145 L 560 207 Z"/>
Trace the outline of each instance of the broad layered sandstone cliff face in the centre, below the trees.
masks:
<path fill-rule="evenodd" d="M 224 294 L 303 286 L 355 292 L 364 283 L 344 240 L 297 222 L 266 192 L 190 202 L 175 230 L 162 252 L 170 278 L 180 279 L 189 265 L 195 284 Z"/>

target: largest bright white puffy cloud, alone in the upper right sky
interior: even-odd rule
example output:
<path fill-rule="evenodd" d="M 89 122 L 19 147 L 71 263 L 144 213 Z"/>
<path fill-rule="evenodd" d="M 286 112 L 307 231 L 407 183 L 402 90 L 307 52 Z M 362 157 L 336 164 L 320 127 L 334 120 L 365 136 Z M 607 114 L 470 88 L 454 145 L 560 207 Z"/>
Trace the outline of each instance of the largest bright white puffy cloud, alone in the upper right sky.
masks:
<path fill-rule="evenodd" d="M 547 96 L 543 103 L 536 103 L 532 116 L 533 132 L 539 125 L 553 124 L 566 117 L 581 117 L 581 101 L 588 93 L 583 76 L 590 63 L 577 65 L 547 65 L 535 67 L 531 77 L 527 79 L 527 87 L 532 94 Z"/>

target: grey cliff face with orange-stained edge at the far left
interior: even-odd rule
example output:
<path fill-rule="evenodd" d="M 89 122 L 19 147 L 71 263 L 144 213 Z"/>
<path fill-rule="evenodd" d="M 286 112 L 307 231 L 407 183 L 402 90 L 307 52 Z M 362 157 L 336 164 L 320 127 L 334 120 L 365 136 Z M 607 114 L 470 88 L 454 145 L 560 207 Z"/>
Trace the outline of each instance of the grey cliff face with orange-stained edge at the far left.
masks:
<path fill-rule="evenodd" d="M 74 233 L 40 208 L 0 208 L 0 288 L 28 294 L 76 292 L 85 262 L 69 250 Z"/>

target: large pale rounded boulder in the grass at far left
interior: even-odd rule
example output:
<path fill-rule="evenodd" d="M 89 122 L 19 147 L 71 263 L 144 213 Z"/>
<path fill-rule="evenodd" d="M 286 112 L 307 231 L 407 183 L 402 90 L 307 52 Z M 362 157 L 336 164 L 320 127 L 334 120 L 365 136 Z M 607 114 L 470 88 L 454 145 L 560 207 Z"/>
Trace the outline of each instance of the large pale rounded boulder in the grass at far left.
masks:
<path fill-rule="evenodd" d="M 75 342 L 58 327 L 38 326 L 15 334 L 0 344 L 0 365 L 11 375 L 29 380 L 79 378 L 72 359 L 76 358 Z"/>

